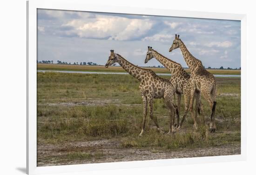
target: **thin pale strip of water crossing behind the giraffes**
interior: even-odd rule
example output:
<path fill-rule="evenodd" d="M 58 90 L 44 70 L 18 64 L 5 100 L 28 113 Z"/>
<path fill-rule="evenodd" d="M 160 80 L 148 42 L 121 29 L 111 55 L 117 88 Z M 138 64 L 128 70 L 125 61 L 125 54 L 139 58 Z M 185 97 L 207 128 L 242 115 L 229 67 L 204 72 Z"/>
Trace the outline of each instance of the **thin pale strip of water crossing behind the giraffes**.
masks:
<path fill-rule="evenodd" d="M 127 72 L 89 72 L 89 71 L 72 71 L 72 70 L 37 70 L 37 72 L 61 72 L 61 73 L 78 73 L 78 74 L 119 74 L 119 75 L 127 75 Z M 156 73 L 156 75 L 168 75 L 166 73 Z M 222 74 L 214 74 L 216 77 L 241 77 L 241 75 L 222 75 Z"/>

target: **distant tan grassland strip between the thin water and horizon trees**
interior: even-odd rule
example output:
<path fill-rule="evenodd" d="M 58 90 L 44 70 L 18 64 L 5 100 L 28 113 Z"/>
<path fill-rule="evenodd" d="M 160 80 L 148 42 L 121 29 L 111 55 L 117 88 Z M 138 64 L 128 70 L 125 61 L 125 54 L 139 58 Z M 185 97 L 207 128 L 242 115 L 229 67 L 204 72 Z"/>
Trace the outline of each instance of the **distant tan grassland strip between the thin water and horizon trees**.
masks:
<path fill-rule="evenodd" d="M 155 73 L 169 73 L 168 69 L 165 68 L 148 68 L 152 69 Z M 99 72 L 125 72 L 120 66 L 110 66 L 106 69 L 104 66 L 82 66 L 82 65 L 65 65 L 65 64 L 37 64 L 39 70 L 72 70 L 72 71 L 99 71 Z M 185 69 L 190 73 L 189 69 Z M 222 74 L 222 75 L 240 75 L 240 70 L 228 70 L 228 69 L 207 69 L 211 74 Z"/>

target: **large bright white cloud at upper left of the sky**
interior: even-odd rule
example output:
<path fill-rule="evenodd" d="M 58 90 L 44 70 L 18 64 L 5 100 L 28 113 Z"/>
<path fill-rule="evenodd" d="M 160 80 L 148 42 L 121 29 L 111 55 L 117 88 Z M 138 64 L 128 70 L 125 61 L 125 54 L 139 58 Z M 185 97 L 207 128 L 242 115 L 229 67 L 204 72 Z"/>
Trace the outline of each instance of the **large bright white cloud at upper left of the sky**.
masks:
<path fill-rule="evenodd" d="M 99 17 L 94 21 L 74 19 L 64 26 L 74 27 L 81 38 L 108 38 L 129 40 L 140 37 L 150 30 L 153 22 L 148 19 L 128 19 L 122 17 Z"/>

